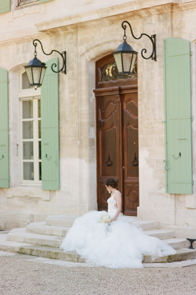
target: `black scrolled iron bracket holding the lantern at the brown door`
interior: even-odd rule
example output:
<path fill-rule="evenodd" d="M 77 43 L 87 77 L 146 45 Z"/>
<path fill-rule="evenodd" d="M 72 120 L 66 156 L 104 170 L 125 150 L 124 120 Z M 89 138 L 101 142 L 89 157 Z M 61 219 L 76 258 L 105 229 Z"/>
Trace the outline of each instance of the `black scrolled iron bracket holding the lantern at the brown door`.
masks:
<path fill-rule="evenodd" d="M 123 36 L 123 40 L 126 40 L 127 39 L 127 36 L 126 36 L 126 34 L 125 34 L 125 30 L 126 30 L 126 28 L 127 28 L 127 26 L 126 26 L 126 24 L 128 24 L 128 26 L 129 26 L 129 28 L 130 28 L 130 30 L 131 30 L 131 35 L 132 35 L 132 37 L 134 38 L 134 39 L 140 39 L 143 35 L 144 36 L 147 36 L 149 39 L 150 39 L 150 41 L 152 42 L 152 45 L 153 45 L 153 51 L 152 51 L 152 53 L 151 53 L 151 55 L 148 57 L 148 58 L 146 58 L 144 55 L 143 55 L 143 53 L 146 53 L 147 52 L 147 50 L 145 49 L 145 48 L 143 48 L 142 49 L 142 51 L 141 51 L 141 55 L 142 55 L 142 58 L 144 58 L 144 59 L 149 59 L 149 58 L 151 58 L 152 60 L 154 60 L 154 61 L 156 61 L 156 35 L 154 34 L 154 35 L 152 35 L 152 36 L 149 36 L 149 35 L 147 35 L 147 34 L 145 34 L 145 33 L 142 33 L 141 35 L 140 35 L 140 37 L 135 37 L 134 35 L 133 35 L 133 31 L 132 31 L 132 27 L 131 27 L 131 25 L 129 24 L 129 22 L 127 22 L 126 20 L 124 21 L 124 22 L 122 22 L 122 28 L 124 29 L 124 36 Z"/>

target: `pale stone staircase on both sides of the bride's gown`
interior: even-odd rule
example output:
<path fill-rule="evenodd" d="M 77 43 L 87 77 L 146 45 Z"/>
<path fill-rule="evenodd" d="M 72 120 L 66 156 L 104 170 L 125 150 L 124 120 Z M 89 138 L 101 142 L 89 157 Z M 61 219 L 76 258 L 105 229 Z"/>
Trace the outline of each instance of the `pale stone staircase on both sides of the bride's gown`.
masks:
<path fill-rule="evenodd" d="M 2 232 L 0 234 L 0 250 L 72 262 L 84 262 L 84 259 L 75 252 L 59 250 L 64 236 L 76 217 L 74 215 L 49 216 L 46 222 L 33 222 L 25 228 L 14 228 L 5 234 Z M 130 217 L 127 216 L 127 218 Z M 173 230 L 160 229 L 159 222 L 138 220 L 137 217 L 131 218 L 135 218 L 139 222 L 146 235 L 158 237 L 177 251 L 174 255 L 157 258 L 155 261 L 152 261 L 150 256 L 144 256 L 143 262 L 173 262 L 196 258 L 196 250 L 188 249 L 190 242 L 186 238 L 174 237 Z"/>

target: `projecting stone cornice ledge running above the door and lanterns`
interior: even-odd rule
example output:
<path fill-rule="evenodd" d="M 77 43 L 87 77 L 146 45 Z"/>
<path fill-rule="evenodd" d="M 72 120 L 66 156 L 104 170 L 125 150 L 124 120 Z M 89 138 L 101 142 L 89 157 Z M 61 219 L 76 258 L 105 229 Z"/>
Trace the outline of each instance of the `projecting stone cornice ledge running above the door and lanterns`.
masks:
<path fill-rule="evenodd" d="M 195 7 L 196 1 L 190 0 L 136 0 L 108 8 L 98 9 L 82 14 L 75 14 L 60 19 L 53 19 L 50 21 L 37 23 L 35 24 L 35 26 L 37 27 L 38 31 L 48 30 L 52 32 L 52 30 L 54 30 L 55 28 L 65 28 L 74 24 L 77 24 L 77 27 L 79 28 L 85 27 L 85 24 L 88 25 L 89 22 L 91 22 L 90 25 L 93 25 L 93 22 L 96 22 L 96 25 L 98 25 L 98 20 L 100 20 L 101 23 L 105 18 L 107 18 L 110 23 L 113 22 L 113 20 L 115 22 L 117 15 L 118 20 L 120 15 L 123 15 L 123 18 L 126 15 L 129 15 L 129 17 L 135 19 L 148 15 L 167 13 L 169 11 L 174 12 L 178 10 L 192 9 Z"/>

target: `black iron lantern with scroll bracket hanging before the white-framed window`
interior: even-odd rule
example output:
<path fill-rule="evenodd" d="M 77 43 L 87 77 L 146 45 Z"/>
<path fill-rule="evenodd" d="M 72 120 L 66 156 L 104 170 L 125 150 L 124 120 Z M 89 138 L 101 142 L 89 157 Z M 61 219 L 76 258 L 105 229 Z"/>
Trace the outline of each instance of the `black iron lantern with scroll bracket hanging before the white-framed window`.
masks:
<path fill-rule="evenodd" d="M 46 68 L 47 68 L 46 64 L 42 63 L 36 57 L 37 56 L 37 52 L 36 52 L 37 43 L 36 43 L 36 41 L 38 41 L 41 44 L 41 42 L 38 39 L 35 39 L 33 41 L 33 45 L 35 47 L 35 52 L 34 52 L 35 57 L 32 60 L 30 60 L 28 65 L 25 65 L 25 67 L 24 67 L 25 71 L 27 73 L 27 78 L 29 80 L 29 84 L 30 84 L 30 86 L 33 86 L 35 89 L 37 89 L 38 87 L 40 87 L 42 85 L 43 78 L 44 78 Z M 42 44 L 41 44 L 41 49 L 43 51 Z M 59 71 L 55 71 L 53 67 L 56 67 L 57 65 L 55 63 L 53 63 L 51 65 L 52 71 L 55 73 L 59 73 L 61 71 L 62 73 L 66 74 L 66 51 L 63 51 L 62 53 L 60 53 L 57 50 L 52 50 L 51 53 L 47 54 L 44 51 L 43 51 L 43 53 L 45 55 L 51 55 L 54 51 L 58 52 L 61 55 L 61 57 L 63 58 L 63 66 Z"/>

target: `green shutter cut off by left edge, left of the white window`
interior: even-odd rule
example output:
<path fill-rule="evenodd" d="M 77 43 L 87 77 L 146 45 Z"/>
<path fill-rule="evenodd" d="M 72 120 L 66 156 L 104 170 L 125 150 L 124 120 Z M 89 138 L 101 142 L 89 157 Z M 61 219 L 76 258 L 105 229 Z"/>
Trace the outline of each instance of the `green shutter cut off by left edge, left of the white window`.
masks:
<path fill-rule="evenodd" d="M 0 187 L 9 187 L 8 71 L 0 68 Z"/>

